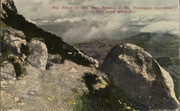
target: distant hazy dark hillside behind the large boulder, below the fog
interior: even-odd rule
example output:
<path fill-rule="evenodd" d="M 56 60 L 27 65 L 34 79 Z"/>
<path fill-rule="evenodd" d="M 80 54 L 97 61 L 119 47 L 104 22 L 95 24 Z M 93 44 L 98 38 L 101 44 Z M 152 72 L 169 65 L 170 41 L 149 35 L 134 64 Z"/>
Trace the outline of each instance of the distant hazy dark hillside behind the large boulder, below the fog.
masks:
<path fill-rule="evenodd" d="M 98 39 L 75 44 L 83 53 L 97 59 L 100 65 L 110 49 L 118 44 L 132 43 L 149 52 L 172 76 L 178 98 L 179 92 L 179 36 L 173 34 L 141 33 L 123 40 Z"/>

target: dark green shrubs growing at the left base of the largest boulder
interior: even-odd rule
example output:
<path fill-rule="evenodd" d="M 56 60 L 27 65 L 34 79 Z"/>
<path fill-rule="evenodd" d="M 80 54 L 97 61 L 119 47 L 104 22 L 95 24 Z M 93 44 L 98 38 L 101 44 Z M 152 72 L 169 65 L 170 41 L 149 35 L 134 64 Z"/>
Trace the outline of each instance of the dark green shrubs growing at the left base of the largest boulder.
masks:
<path fill-rule="evenodd" d="M 98 76 L 85 73 L 84 82 L 89 90 L 88 94 L 75 93 L 73 98 L 74 111 L 135 111 L 138 108 L 131 106 L 120 87 L 107 81 L 105 88 L 94 89 L 94 85 L 100 82 Z"/>

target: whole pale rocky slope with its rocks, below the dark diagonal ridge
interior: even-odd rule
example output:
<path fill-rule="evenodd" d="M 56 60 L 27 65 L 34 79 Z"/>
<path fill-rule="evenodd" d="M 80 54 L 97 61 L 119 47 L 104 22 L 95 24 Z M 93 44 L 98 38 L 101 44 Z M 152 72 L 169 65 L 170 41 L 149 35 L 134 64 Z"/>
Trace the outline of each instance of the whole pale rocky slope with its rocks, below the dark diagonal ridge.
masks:
<path fill-rule="evenodd" d="M 37 38 L 30 42 L 25 38 L 22 31 L 2 22 L 1 110 L 69 111 L 81 108 L 81 96 L 89 92 L 85 80 L 91 78 L 85 74 L 96 79 L 104 78 L 103 73 L 64 60 L 61 55 L 49 54 L 46 45 Z M 102 83 L 97 83 L 96 88 L 107 85 L 104 80 L 100 81 Z"/>

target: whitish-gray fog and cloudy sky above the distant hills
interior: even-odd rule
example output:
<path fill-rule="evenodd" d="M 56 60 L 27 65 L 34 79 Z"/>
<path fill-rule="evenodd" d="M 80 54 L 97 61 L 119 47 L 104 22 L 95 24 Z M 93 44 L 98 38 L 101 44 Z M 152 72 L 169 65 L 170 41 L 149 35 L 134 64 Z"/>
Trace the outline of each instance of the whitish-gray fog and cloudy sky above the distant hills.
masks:
<path fill-rule="evenodd" d="M 179 34 L 178 0 L 14 0 L 20 14 L 67 42 L 95 38 L 123 39 L 138 33 Z M 52 6 L 168 6 L 173 10 L 135 14 L 91 14 L 89 10 L 54 10 Z M 26 7 L 24 7 L 26 6 Z"/>

